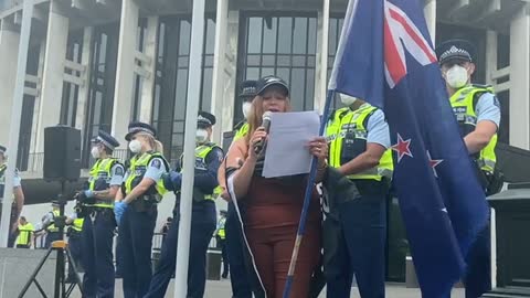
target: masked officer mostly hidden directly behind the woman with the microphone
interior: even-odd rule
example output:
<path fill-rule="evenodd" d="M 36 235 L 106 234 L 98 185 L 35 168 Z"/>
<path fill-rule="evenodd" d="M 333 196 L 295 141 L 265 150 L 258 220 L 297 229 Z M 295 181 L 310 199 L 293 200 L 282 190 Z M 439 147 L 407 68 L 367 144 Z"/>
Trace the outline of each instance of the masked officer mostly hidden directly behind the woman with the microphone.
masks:
<path fill-rule="evenodd" d="M 242 111 L 245 117 L 241 123 L 235 127 L 235 135 L 233 141 L 236 141 L 240 138 L 246 137 L 248 134 L 248 123 L 247 117 L 251 114 L 252 100 L 257 95 L 257 82 L 256 81 L 244 81 L 241 83 L 240 98 L 242 100 Z M 224 190 L 225 188 L 225 172 L 226 167 L 223 162 L 219 170 L 219 181 L 220 187 Z M 251 298 L 252 297 L 252 287 L 248 281 L 248 275 L 246 273 L 244 256 L 243 256 L 243 243 L 241 240 L 241 224 L 235 211 L 234 203 L 230 202 L 230 196 L 226 191 L 223 191 L 221 196 L 229 201 L 229 210 L 226 215 L 226 255 L 230 262 L 231 268 L 231 284 L 232 284 L 232 295 L 234 298 Z M 240 206 L 241 215 L 244 216 L 244 209 Z"/>

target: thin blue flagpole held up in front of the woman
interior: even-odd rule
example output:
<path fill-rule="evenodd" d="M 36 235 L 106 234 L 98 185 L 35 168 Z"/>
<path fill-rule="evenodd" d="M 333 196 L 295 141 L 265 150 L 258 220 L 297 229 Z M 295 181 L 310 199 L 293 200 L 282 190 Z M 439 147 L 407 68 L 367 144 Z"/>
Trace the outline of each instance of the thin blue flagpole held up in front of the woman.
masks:
<path fill-rule="evenodd" d="M 322 120 L 320 121 L 320 131 L 319 136 L 324 136 L 324 130 L 326 129 L 326 123 L 329 115 L 329 108 L 331 102 L 335 97 L 335 91 L 328 91 L 326 96 L 326 105 L 324 107 Z M 317 158 L 314 157 L 311 161 L 311 169 L 309 171 L 309 179 L 307 180 L 306 194 L 304 196 L 304 206 L 301 207 L 300 222 L 298 224 L 298 232 L 296 233 L 295 247 L 293 248 L 293 254 L 290 256 L 289 270 L 287 272 L 287 280 L 284 287 L 283 298 L 289 298 L 290 288 L 293 287 L 293 278 L 295 276 L 296 260 L 298 259 L 298 251 L 300 249 L 301 241 L 304 238 L 304 233 L 306 231 L 307 222 L 307 212 L 309 210 L 309 204 L 311 203 L 312 190 L 315 185 L 315 180 L 317 178 Z"/>

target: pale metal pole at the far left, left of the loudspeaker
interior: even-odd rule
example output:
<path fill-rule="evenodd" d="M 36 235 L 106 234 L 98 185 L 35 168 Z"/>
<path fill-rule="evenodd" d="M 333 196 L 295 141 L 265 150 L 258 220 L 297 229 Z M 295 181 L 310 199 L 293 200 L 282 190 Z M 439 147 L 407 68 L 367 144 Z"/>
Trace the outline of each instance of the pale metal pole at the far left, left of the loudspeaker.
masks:
<path fill-rule="evenodd" d="M 22 118 L 22 100 L 24 98 L 25 65 L 28 62 L 28 50 L 30 47 L 31 19 L 33 15 L 33 1 L 24 0 L 22 8 L 22 25 L 20 29 L 19 58 L 17 62 L 17 77 L 11 109 L 11 125 L 9 129 L 9 159 L 6 171 L 6 189 L 3 191 L 2 219 L 0 221 L 0 246 L 8 246 L 8 238 L 11 223 L 11 204 L 13 203 L 13 179 L 17 167 L 20 119 Z"/>

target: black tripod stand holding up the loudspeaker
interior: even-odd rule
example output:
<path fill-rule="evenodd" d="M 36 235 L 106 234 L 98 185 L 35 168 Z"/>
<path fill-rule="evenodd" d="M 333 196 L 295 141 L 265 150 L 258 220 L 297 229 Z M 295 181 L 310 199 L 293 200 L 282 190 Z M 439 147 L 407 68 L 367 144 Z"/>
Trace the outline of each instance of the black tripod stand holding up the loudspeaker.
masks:
<path fill-rule="evenodd" d="M 65 180 L 61 180 L 61 194 L 57 196 L 59 202 L 59 216 L 54 220 L 54 225 L 59 227 L 59 233 L 61 234 L 61 240 L 55 241 L 52 243 L 52 246 L 47 248 L 46 254 L 36 266 L 33 274 L 30 276 L 30 279 L 25 283 L 24 288 L 19 295 L 19 298 L 24 297 L 30 288 L 31 284 L 35 284 L 36 288 L 41 292 L 42 297 L 47 298 L 46 294 L 44 292 L 42 286 L 36 280 L 36 276 L 39 275 L 40 270 L 49 259 L 50 255 L 53 251 L 57 252 L 57 259 L 55 262 L 55 287 L 54 287 L 54 298 L 67 298 L 72 295 L 75 286 L 80 288 L 81 294 L 83 295 L 83 284 L 80 278 L 80 274 L 77 273 L 77 268 L 75 267 L 74 258 L 68 249 L 68 243 L 64 241 L 64 226 L 66 224 L 66 217 L 64 216 L 64 206 L 66 205 L 66 200 L 64 196 L 65 190 Z M 74 274 L 75 274 L 75 283 L 67 285 L 65 278 L 65 256 L 68 258 L 68 266 L 72 266 Z"/>

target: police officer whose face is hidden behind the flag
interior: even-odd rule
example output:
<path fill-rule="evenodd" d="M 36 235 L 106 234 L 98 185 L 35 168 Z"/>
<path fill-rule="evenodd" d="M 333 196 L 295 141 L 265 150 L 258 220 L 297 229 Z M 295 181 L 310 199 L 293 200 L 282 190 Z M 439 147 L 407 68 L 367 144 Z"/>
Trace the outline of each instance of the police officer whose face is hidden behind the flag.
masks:
<path fill-rule="evenodd" d="M 349 178 L 359 194 L 335 198 L 324 224 L 327 296 L 350 297 L 354 274 L 361 297 L 380 298 L 384 297 L 385 212 L 393 171 L 389 126 L 381 109 L 340 97 L 346 107 L 331 114 L 326 129 L 329 167 Z"/>

